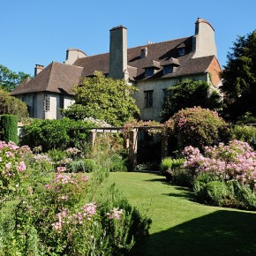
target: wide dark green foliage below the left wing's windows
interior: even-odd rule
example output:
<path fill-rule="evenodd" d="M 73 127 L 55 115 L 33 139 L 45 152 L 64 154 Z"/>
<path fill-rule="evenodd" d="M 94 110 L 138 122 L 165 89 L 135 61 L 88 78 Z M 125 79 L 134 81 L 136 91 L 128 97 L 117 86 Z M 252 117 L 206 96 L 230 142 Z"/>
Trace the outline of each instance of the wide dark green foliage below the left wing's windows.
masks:
<path fill-rule="evenodd" d="M 41 146 L 43 152 L 67 147 L 84 149 L 89 139 L 89 131 L 85 128 L 92 124 L 75 121 L 69 118 L 60 120 L 37 120 L 25 125 L 20 133 L 20 143 L 29 147 Z"/>

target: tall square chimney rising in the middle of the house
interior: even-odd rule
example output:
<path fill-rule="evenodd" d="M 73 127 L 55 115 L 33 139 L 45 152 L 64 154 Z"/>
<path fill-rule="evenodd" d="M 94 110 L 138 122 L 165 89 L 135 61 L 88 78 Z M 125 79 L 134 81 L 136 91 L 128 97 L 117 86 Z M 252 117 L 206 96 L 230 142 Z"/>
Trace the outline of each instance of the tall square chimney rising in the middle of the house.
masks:
<path fill-rule="evenodd" d="M 124 79 L 127 72 L 127 28 L 116 26 L 110 29 L 109 77 Z"/>

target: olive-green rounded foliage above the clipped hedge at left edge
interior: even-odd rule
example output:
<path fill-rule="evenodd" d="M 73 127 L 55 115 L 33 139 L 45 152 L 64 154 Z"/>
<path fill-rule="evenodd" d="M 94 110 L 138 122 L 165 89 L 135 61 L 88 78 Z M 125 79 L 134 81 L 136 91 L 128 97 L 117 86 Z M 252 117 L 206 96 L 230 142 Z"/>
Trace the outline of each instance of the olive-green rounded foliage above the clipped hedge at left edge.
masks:
<path fill-rule="evenodd" d="M 0 88 L 0 115 L 4 114 L 28 117 L 28 110 L 25 102 L 12 97 L 10 93 Z"/>

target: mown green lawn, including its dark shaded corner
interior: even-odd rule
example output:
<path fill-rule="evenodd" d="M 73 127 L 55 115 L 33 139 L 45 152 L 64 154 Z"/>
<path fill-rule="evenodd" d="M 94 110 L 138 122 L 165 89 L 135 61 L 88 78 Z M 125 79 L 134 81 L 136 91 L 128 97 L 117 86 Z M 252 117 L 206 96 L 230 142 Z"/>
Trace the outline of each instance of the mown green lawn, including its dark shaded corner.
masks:
<path fill-rule="evenodd" d="M 256 213 L 197 203 L 188 189 L 149 173 L 110 173 L 153 223 L 136 255 L 256 255 Z"/>

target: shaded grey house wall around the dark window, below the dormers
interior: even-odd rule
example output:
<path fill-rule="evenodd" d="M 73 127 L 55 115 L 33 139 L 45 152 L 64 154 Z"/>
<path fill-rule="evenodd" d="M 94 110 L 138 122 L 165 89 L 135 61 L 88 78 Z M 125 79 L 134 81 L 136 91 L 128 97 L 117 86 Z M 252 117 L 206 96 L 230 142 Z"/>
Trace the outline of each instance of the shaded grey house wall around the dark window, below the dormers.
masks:
<path fill-rule="evenodd" d="M 136 92 L 134 97 L 136 100 L 136 104 L 140 110 L 140 118 L 142 120 L 155 120 L 161 121 L 161 111 L 162 111 L 162 103 L 164 97 L 164 90 L 169 87 L 177 84 L 178 81 L 184 79 L 196 79 L 196 80 L 205 80 L 209 81 L 207 73 L 192 76 L 192 77 L 184 77 L 179 79 L 159 79 L 159 80 L 144 80 L 136 83 L 136 87 L 139 88 L 139 92 Z M 146 108 L 145 107 L 145 91 L 154 91 L 153 92 L 153 107 Z"/>

